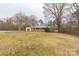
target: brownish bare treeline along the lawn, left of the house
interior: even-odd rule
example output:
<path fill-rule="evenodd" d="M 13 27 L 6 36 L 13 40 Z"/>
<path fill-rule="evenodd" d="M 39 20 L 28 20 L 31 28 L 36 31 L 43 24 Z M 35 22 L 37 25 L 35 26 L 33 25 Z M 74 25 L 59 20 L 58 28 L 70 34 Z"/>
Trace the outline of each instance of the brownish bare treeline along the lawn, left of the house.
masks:
<path fill-rule="evenodd" d="M 16 13 L 12 17 L 0 19 L 0 30 L 25 30 L 26 26 L 37 25 L 34 15 L 26 16 L 24 13 Z"/>

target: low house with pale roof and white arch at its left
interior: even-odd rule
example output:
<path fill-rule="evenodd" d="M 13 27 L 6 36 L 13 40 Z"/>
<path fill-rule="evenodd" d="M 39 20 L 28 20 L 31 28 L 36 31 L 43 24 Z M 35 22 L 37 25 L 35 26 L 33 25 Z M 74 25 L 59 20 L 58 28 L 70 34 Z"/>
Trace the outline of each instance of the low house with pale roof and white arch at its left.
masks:
<path fill-rule="evenodd" d="M 46 28 L 50 27 L 43 23 L 42 20 L 39 20 L 37 25 L 26 26 L 26 31 L 44 32 Z"/>

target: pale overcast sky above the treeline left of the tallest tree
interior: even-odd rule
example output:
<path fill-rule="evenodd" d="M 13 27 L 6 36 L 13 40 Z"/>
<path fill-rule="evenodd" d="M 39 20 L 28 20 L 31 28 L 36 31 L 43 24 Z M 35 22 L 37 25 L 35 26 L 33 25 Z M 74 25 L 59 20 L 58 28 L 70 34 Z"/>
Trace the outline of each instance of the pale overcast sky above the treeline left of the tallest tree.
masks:
<path fill-rule="evenodd" d="M 13 16 L 15 13 L 23 12 L 26 15 L 35 15 L 43 19 L 43 3 L 1 3 L 0 18 Z"/>

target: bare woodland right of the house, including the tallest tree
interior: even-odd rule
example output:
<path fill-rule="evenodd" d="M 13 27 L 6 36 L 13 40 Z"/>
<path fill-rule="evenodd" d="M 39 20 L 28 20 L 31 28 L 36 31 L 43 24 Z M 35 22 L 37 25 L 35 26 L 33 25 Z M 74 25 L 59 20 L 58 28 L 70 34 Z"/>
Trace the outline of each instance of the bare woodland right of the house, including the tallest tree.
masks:
<path fill-rule="evenodd" d="M 51 31 L 79 35 L 79 3 L 45 3 L 43 8 Z"/>

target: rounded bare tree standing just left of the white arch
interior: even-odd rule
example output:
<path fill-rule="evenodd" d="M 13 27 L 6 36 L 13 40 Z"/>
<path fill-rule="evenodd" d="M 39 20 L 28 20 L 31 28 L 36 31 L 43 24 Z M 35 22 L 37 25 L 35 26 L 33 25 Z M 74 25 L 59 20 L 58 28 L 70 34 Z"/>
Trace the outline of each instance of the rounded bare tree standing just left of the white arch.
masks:
<path fill-rule="evenodd" d="M 16 13 L 14 18 L 15 24 L 18 26 L 18 30 L 21 30 L 23 25 L 29 24 L 28 17 L 24 13 Z"/>

